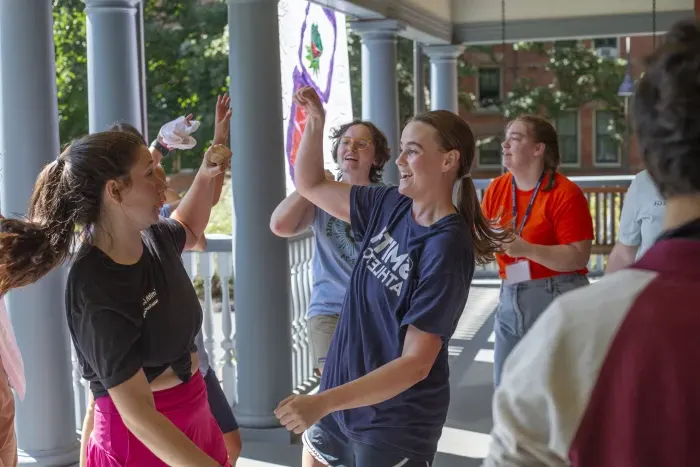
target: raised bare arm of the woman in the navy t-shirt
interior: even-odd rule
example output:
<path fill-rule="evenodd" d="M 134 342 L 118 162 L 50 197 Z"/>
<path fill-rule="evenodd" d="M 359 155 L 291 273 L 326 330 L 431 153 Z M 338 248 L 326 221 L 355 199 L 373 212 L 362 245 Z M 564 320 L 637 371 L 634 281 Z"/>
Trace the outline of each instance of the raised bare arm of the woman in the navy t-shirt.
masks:
<path fill-rule="evenodd" d="M 294 101 L 306 112 L 306 127 L 295 164 L 295 182 L 301 196 L 333 217 L 350 222 L 350 189 L 346 183 L 326 179 L 323 171 L 325 111 L 310 87 L 301 88 Z"/>

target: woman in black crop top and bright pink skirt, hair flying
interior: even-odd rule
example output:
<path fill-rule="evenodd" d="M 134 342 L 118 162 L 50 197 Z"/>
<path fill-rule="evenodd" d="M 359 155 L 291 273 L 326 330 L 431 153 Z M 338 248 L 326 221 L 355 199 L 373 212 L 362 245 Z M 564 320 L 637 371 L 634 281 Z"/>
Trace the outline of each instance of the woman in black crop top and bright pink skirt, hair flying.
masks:
<path fill-rule="evenodd" d="M 218 150 L 228 157 L 215 164 Z M 42 170 L 27 220 L 0 221 L 0 295 L 67 260 L 83 229 L 66 312 L 96 399 L 88 466 L 229 465 L 198 371 L 202 310 L 180 254 L 204 232 L 201 206 L 230 155 L 210 149 L 172 218 L 159 220 L 165 187 L 141 139 L 92 134 Z"/>

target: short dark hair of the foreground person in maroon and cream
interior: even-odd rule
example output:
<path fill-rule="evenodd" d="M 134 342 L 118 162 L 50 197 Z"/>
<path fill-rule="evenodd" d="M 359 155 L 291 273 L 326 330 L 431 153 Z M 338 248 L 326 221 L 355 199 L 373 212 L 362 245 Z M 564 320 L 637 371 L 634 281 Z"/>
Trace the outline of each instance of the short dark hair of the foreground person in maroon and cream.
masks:
<path fill-rule="evenodd" d="M 700 25 L 673 25 L 634 96 L 635 133 L 663 197 L 700 192 Z"/>

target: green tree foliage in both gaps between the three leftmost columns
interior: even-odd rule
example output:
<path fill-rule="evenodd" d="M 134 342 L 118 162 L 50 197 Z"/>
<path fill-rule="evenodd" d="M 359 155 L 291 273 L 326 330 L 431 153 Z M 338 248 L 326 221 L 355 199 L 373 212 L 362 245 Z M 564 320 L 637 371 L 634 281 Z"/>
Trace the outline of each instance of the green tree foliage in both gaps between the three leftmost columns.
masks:
<path fill-rule="evenodd" d="M 88 131 L 85 4 L 54 0 L 54 42 L 59 131 L 67 143 Z M 178 151 L 183 167 L 197 167 L 214 135 L 217 94 L 226 92 L 228 21 L 224 0 L 146 0 L 144 11 L 149 136 L 179 115 L 202 122 L 191 151 Z M 227 45 L 227 44 L 226 44 Z M 165 161 L 166 169 L 170 161 Z"/>

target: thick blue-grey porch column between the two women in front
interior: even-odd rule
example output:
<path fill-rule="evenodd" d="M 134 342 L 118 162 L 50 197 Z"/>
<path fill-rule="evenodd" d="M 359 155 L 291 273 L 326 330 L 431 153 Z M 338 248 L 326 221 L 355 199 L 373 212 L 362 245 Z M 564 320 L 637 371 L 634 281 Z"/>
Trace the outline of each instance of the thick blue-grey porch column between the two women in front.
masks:
<path fill-rule="evenodd" d="M 287 240 L 269 226 L 286 195 L 277 0 L 228 0 L 228 21 L 231 150 L 255 154 L 231 162 L 237 272 L 234 410 L 245 439 L 288 443 L 290 435 L 273 413 L 293 389 Z"/>

